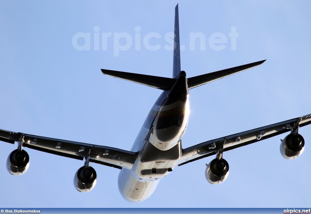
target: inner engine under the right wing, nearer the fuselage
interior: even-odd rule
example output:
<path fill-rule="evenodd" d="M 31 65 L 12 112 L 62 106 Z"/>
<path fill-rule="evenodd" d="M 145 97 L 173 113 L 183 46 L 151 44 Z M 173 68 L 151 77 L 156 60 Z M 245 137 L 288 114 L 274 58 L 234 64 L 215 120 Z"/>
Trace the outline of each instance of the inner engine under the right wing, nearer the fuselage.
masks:
<path fill-rule="evenodd" d="M 213 159 L 206 166 L 205 178 L 211 184 L 219 184 L 229 175 L 229 164 L 225 159 Z"/>

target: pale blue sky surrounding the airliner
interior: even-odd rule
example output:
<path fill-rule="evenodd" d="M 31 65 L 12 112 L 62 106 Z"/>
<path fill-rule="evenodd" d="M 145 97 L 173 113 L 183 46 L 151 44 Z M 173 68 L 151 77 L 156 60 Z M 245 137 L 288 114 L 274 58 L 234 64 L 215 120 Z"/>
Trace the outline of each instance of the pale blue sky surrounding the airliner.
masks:
<path fill-rule="evenodd" d="M 100 69 L 171 77 L 173 51 L 164 48 L 165 34 L 173 32 L 177 3 L 187 77 L 267 59 L 190 90 L 183 148 L 311 113 L 310 1 L 1 1 L 0 129 L 130 150 L 161 91 L 104 76 Z M 236 50 L 231 27 L 239 33 Z M 76 50 L 72 38 L 79 32 L 90 33 L 90 50 Z M 103 50 L 102 33 L 109 32 Z M 115 40 L 122 32 L 132 45 Z M 149 40 L 159 50 L 143 43 L 151 32 L 161 36 Z M 205 36 L 205 50 L 199 39 L 190 50 L 190 33 L 197 32 Z M 223 50 L 209 44 L 214 33 L 225 36 L 227 43 L 216 44 Z M 76 43 L 83 46 L 84 39 Z M 128 50 L 114 56 L 121 45 Z M 5 163 L 17 144 L 0 142 L 0 207 L 308 207 L 311 126 L 299 133 L 306 144 L 298 159 L 281 156 L 286 134 L 276 136 L 225 152 L 230 174 L 221 185 L 205 179 L 205 164 L 214 158 L 208 157 L 176 167 L 140 203 L 121 197 L 119 169 L 91 163 L 96 187 L 79 193 L 73 176 L 83 161 L 35 150 L 25 149 L 28 172 L 12 176 Z"/>

